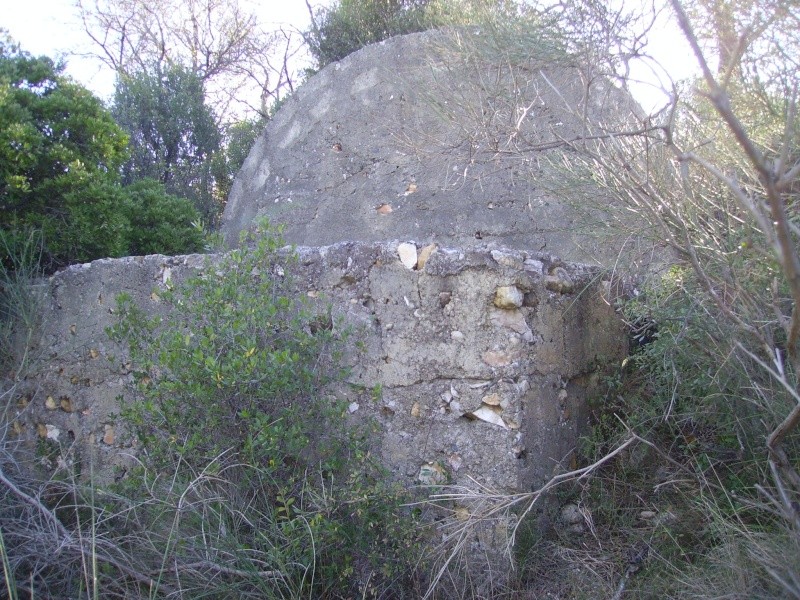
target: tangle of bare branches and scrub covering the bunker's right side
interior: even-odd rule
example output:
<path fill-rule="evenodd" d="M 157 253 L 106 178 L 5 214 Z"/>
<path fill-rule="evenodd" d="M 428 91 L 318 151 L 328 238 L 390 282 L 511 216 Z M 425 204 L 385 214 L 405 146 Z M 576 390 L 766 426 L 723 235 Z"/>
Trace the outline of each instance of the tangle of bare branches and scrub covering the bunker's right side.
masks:
<path fill-rule="evenodd" d="M 525 92 L 535 89 L 547 38 L 503 26 L 485 28 L 477 41 L 459 38 L 466 64 L 493 65 L 515 84 L 505 95 L 476 90 L 482 120 L 462 122 L 480 137 L 472 147 L 494 139 L 515 164 L 535 156 L 554 189 L 605 188 L 615 202 L 591 208 L 613 218 L 619 207 L 617 235 L 649 239 L 651 256 L 662 260 L 619 307 L 631 356 L 595 401 L 578 469 L 501 500 L 480 490 L 453 494 L 477 503 L 475 523 L 498 511 L 535 513 L 553 491 L 577 507 L 583 533 L 562 523 L 518 547 L 523 589 L 797 598 L 798 15 L 781 2 L 703 2 L 693 15 L 672 4 L 701 76 L 666 89 L 664 109 L 645 120 L 598 122 L 586 106 L 599 77 L 624 84 L 652 15 L 593 2 L 534 13 L 531 24 L 558 25 L 565 64 L 580 72 L 588 99 L 564 102 L 584 133 L 544 149 L 506 117 L 530 102 Z M 695 27 L 709 21 L 710 30 Z M 518 539 L 524 530 L 523 520 Z M 549 590 L 542 577 L 552 578 Z"/>

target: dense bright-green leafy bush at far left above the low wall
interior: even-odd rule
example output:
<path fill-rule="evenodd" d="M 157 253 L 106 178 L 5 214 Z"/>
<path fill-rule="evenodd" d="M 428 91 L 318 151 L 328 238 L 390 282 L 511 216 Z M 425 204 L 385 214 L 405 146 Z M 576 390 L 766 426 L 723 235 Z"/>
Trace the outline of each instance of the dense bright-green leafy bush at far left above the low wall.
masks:
<path fill-rule="evenodd" d="M 0 261 L 14 268 L 32 237 L 42 267 L 124 256 L 137 249 L 131 216 L 152 221 L 169 204 L 171 231 L 148 233 L 149 251 L 202 247 L 185 200 L 149 186 L 149 203 L 120 184 L 127 138 L 102 103 L 62 66 L 0 42 Z M 131 195 L 131 191 L 134 195 Z M 176 235 L 177 234 L 177 235 Z M 140 234 L 137 234 L 140 235 Z M 180 240 L 180 243 L 176 243 Z"/>

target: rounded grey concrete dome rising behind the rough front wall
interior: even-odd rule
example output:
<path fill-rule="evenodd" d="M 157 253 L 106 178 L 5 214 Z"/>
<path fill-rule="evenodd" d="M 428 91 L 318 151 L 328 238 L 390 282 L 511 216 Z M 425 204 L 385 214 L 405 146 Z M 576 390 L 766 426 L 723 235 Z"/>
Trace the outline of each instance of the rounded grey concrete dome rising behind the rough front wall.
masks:
<path fill-rule="evenodd" d="M 302 245 L 495 242 L 614 265 L 624 239 L 597 210 L 608 200 L 551 161 L 601 121 L 635 127 L 635 103 L 600 78 L 587 88 L 574 65 L 532 56 L 510 69 L 467 38 L 392 38 L 312 77 L 236 178 L 227 242 L 264 215 Z"/>

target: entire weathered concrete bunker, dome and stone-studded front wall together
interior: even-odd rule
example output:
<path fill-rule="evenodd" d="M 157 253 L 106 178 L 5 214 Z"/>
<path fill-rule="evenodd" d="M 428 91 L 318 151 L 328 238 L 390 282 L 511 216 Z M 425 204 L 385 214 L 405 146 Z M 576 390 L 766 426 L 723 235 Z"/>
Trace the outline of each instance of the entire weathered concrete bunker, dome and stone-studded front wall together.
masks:
<path fill-rule="evenodd" d="M 223 233 L 234 243 L 261 215 L 300 244 L 295 293 L 323 296 L 366 348 L 349 355 L 349 385 L 330 393 L 353 418 L 380 424 L 394 477 L 529 491 L 570 466 L 586 398 L 626 351 L 602 269 L 621 244 L 577 227 L 585 215 L 531 176 L 539 171 L 521 174 L 441 119 L 436 102 L 448 99 L 436 94 L 450 90 L 458 104 L 475 84 L 450 68 L 441 36 L 366 48 L 304 85 L 253 148 Z M 538 116 L 525 132 L 543 144 L 580 128 L 558 100 L 580 86 L 559 79 L 572 87 L 530 88 Z M 598 114 L 635 112 L 619 90 L 601 92 Z M 593 218 L 604 226 L 603 214 Z M 205 260 L 100 260 L 44 282 L 48 358 L 18 399 L 17 434 L 74 440 L 101 476 L 123 468 L 135 440 L 114 418 L 131 377 L 105 335 L 114 298 L 124 291 L 158 310 L 158 288 Z M 358 391 L 375 387 L 379 398 Z M 496 549 L 503 535 L 476 543 Z"/>

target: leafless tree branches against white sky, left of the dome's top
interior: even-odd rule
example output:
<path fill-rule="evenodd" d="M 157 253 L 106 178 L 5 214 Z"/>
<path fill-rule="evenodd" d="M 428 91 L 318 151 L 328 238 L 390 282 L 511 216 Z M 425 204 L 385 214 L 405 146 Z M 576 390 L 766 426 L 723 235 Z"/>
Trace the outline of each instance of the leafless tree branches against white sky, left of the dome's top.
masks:
<path fill-rule="evenodd" d="M 294 88 L 299 37 L 264 30 L 238 0 L 78 0 L 78 8 L 98 57 L 121 77 L 182 67 L 220 116 L 234 101 L 266 116 L 267 103 Z"/>

